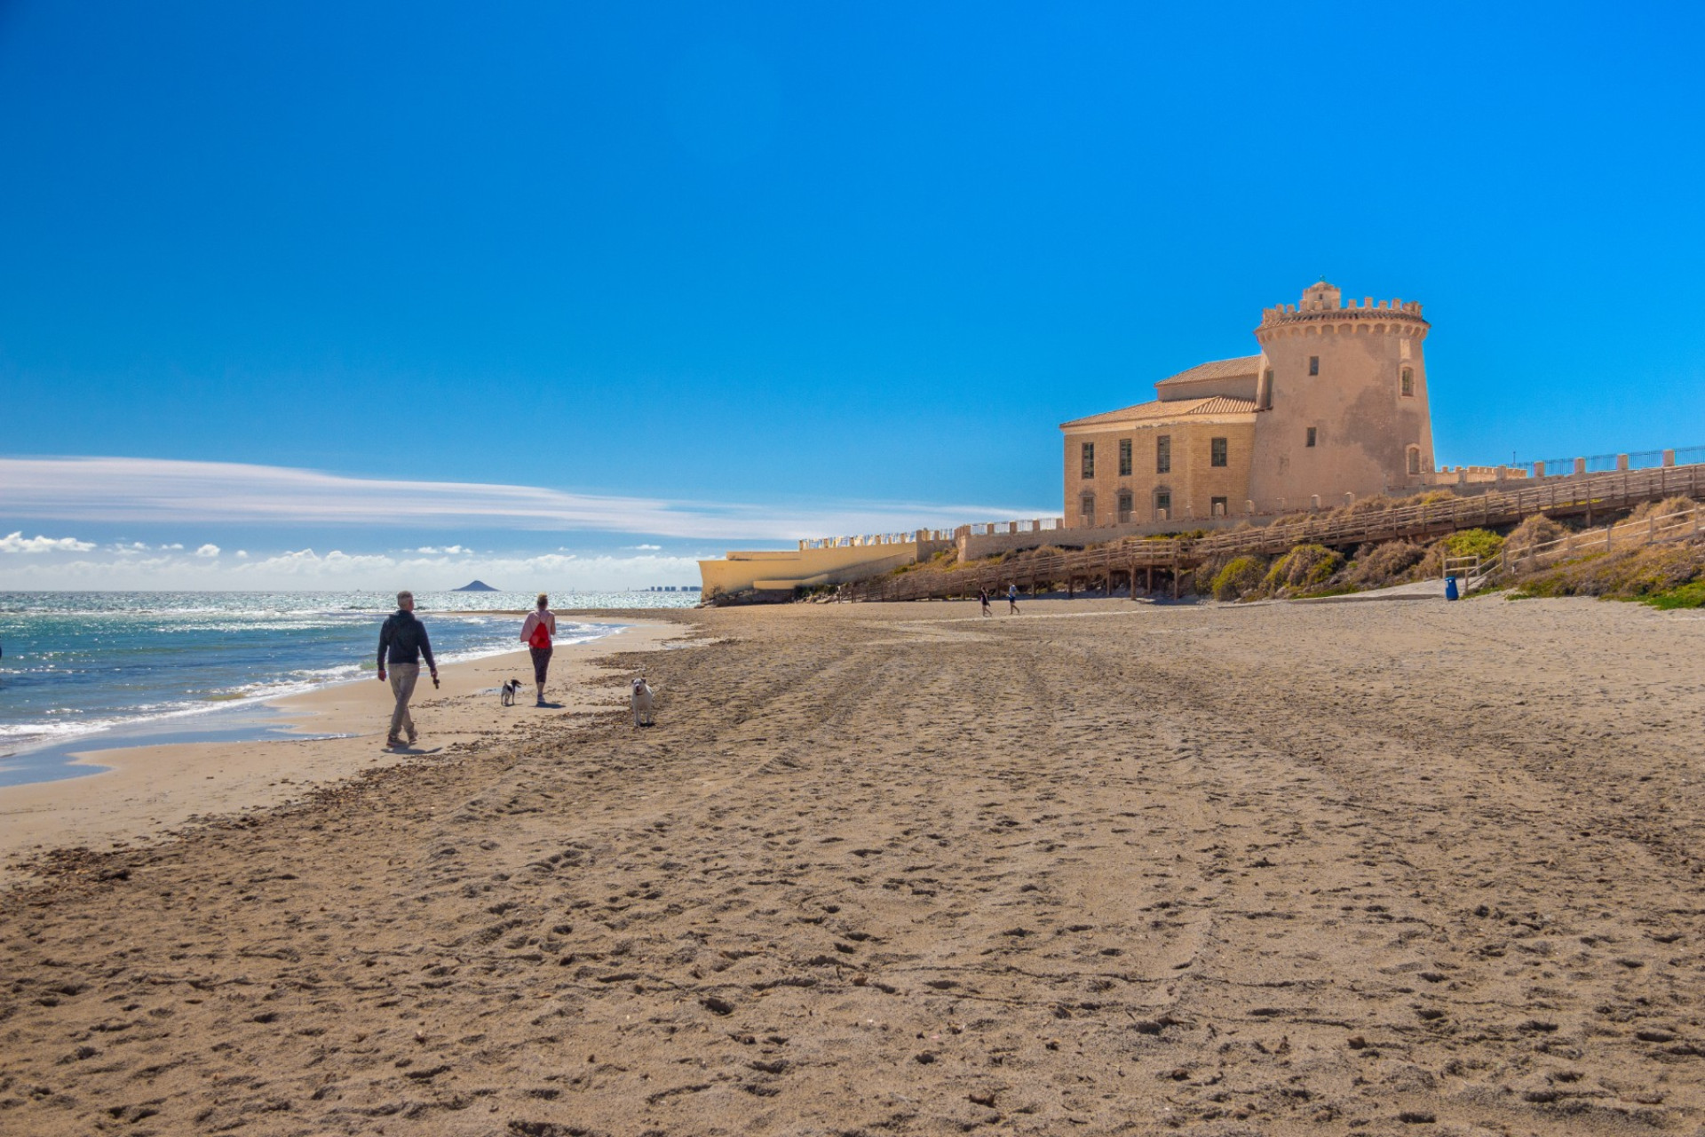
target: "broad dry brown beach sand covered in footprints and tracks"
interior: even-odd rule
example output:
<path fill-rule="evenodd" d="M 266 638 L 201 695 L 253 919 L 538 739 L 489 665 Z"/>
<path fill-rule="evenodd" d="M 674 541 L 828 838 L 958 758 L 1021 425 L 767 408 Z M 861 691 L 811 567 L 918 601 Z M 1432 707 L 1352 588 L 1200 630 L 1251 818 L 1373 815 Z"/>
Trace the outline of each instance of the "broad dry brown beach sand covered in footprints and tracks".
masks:
<path fill-rule="evenodd" d="M 0 1130 L 1705 1123 L 1698 615 L 646 617 L 714 638 L 617 660 L 655 730 L 610 673 L 0 897 Z"/>

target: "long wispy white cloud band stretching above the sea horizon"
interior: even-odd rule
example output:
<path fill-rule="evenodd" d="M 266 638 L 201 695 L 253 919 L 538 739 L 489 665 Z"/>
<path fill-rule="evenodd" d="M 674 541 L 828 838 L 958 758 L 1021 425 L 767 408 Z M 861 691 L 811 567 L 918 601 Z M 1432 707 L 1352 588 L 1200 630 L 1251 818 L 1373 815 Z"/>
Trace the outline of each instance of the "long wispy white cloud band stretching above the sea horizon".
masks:
<path fill-rule="evenodd" d="M 0 459 L 0 515 L 58 522 L 361 523 L 593 530 L 793 540 L 1037 517 L 1013 506 L 711 505 L 576 494 L 539 486 L 343 477 L 317 470 L 160 459 Z M 22 534 L 17 534 L 22 539 Z M 10 540 L 10 539 L 9 539 Z M 41 540 L 41 539 L 36 539 Z"/>

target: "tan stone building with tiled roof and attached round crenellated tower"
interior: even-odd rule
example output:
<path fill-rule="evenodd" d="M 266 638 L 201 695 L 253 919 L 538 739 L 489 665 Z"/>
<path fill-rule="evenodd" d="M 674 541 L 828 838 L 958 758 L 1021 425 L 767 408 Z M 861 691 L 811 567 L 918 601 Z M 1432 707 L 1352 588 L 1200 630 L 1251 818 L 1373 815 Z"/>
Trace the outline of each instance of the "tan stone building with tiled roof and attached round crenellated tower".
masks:
<path fill-rule="evenodd" d="M 1275 513 L 1420 489 L 1432 416 L 1419 303 L 1321 281 L 1267 309 L 1260 355 L 1202 363 L 1156 399 L 1062 423 L 1072 528 Z"/>

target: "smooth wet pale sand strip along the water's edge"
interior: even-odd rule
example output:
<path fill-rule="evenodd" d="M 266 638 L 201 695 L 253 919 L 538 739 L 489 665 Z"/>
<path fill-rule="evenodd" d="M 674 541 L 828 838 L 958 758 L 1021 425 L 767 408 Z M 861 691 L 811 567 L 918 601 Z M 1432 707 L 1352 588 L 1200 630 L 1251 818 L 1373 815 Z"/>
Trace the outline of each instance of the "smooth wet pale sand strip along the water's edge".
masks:
<path fill-rule="evenodd" d="M 571 619 L 587 620 L 581 612 Z M 257 738 L 72 750 L 72 765 L 102 769 L 0 786 L 0 892 L 27 880 L 27 863 L 53 851 L 153 842 L 208 817 L 285 805 L 363 771 L 612 709 L 609 694 L 595 685 L 602 668 L 592 660 L 616 651 L 655 651 L 684 629 L 675 620 L 627 614 L 609 619 L 621 619 L 622 626 L 558 646 L 546 687 L 552 706 L 532 706 L 532 661 L 525 648 L 440 663 L 442 689 L 435 690 L 425 675 L 414 689 L 411 711 L 421 740 L 407 750 L 384 748 L 390 687 L 372 675 L 257 701 L 256 711 L 278 716 Z M 494 689 L 505 678 L 525 680 L 525 701 L 512 707 L 498 704 Z"/>

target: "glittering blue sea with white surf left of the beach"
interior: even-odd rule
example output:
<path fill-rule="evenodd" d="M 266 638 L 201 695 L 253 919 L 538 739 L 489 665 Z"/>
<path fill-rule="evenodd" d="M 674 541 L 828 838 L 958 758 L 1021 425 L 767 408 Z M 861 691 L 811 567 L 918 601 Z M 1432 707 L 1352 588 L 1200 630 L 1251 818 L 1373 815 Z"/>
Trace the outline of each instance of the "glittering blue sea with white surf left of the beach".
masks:
<path fill-rule="evenodd" d="M 563 609 L 691 607 L 697 593 L 578 593 Z M 418 593 L 440 663 L 517 651 L 534 593 Z M 72 755 L 278 731 L 278 695 L 372 677 L 370 592 L 0 592 L 0 786 L 99 772 Z M 558 617 L 558 643 L 621 624 Z"/>

